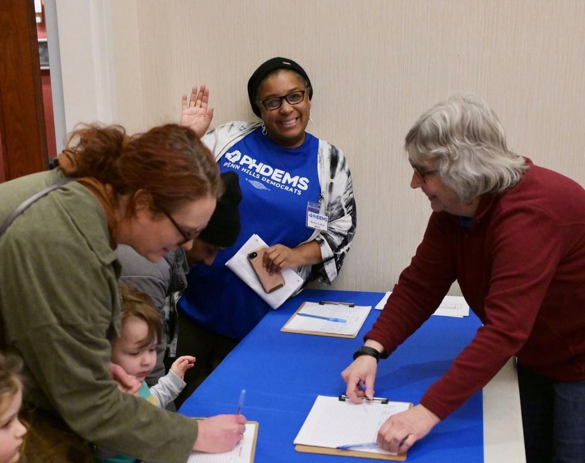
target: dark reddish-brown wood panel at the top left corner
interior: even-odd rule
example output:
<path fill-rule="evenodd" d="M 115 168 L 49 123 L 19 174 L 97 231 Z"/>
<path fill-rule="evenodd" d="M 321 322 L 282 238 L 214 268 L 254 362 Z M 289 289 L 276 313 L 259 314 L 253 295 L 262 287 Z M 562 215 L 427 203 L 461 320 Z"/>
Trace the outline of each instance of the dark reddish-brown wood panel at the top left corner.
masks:
<path fill-rule="evenodd" d="M 0 1 L 0 146 L 6 180 L 47 169 L 33 0 Z"/>

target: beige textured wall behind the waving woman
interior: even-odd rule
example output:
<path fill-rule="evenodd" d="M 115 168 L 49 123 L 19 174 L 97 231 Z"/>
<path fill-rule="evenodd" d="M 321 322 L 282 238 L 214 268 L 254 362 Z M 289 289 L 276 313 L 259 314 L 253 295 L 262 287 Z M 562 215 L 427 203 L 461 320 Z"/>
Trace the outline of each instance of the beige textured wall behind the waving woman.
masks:
<path fill-rule="evenodd" d="M 252 120 L 250 74 L 291 57 L 314 85 L 309 131 L 342 149 L 358 211 L 338 289 L 387 290 L 422 237 L 428 200 L 409 188 L 409 126 L 459 90 L 482 95 L 509 146 L 585 182 L 585 2 L 215 0 L 111 3 L 117 119 L 176 121 L 180 95 L 211 87 L 213 125 Z"/>

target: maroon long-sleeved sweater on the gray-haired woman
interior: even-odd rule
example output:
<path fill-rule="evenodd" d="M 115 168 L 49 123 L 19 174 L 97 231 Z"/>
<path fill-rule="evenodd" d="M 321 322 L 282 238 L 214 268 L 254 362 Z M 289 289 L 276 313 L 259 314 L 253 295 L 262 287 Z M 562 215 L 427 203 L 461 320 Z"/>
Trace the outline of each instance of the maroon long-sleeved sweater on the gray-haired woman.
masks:
<path fill-rule="evenodd" d="M 585 379 L 585 190 L 531 166 L 481 198 L 470 228 L 433 212 L 411 264 L 365 338 L 391 354 L 439 306 L 452 282 L 483 326 L 421 403 L 444 419 L 512 356 L 558 381 Z"/>

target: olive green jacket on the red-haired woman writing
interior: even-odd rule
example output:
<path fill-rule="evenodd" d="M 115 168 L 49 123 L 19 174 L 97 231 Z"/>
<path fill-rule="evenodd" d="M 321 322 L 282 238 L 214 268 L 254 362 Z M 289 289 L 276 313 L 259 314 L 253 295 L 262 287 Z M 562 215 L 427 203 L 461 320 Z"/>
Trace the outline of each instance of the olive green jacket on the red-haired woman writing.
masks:
<path fill-rule="evenodd" d="M 0 223 L 60 170 L 0 184 Z M 120 266 L 101 204 L 72 181 L 0 237 L 5 343 L 24 360 L 26 402 L 58 413 L 85 439 L 136 458 L 185 462 L 197 421 L 122 393 L 109 373 L 120 332 Z"/>

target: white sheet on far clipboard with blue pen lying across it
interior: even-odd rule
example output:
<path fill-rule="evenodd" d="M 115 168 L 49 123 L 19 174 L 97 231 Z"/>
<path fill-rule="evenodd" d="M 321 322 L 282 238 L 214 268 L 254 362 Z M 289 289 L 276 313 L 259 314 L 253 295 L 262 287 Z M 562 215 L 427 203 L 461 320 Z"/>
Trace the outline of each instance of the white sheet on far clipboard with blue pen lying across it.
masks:
<path fill-rule="evenodd" d="M 314 331 L 355 336 L 362 328 L 370 310 L 371 306 L 347 307 L 333 304 L 321 306 L 316 302 L 305 302 L 299 313 L 340 318 L 345 320 L 345 323 L 321 320 L 320 318 L 299 317 L 297 314 L 286 324 L 286 328 L 294 331 Z"/>

